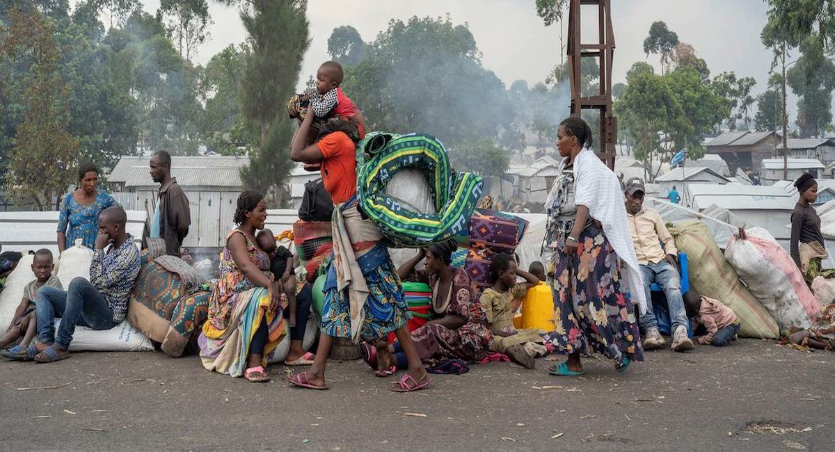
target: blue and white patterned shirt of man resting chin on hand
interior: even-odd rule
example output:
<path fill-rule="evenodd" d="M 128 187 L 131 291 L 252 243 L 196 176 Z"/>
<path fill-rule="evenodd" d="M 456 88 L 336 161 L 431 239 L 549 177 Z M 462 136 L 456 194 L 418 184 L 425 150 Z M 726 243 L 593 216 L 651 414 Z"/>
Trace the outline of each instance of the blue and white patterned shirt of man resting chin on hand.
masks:
<path fill-rule="evenodd" d="M 139 249 L 134 245 L 134 238 L 128 234 L 119 249 L 109 245 L 97 250 L 90 264 L 90 283 L 93 283 L 109 308 L 113 311 L 113 321 L 119 323 L 128 313 L 128 299 L 139 276 Z"/>

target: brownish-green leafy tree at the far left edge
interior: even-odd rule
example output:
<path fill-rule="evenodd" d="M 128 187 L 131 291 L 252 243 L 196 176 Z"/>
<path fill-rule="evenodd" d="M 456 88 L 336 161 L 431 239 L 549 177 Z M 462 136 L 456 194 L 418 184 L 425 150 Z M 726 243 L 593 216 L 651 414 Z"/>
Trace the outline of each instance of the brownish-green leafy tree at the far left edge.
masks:
<path fill-rule="evenodd" d="M 25 69 L 19 85 L 25 98 L 23 121 L 14 135 L 5 190 L 48 210 L 69 186 L 77 164 L 78 139 L 68 130 L 70 90 L 58 67 L 52 24 L 38 9 L 12 8 L 5 22 L 0 51 Z"/>

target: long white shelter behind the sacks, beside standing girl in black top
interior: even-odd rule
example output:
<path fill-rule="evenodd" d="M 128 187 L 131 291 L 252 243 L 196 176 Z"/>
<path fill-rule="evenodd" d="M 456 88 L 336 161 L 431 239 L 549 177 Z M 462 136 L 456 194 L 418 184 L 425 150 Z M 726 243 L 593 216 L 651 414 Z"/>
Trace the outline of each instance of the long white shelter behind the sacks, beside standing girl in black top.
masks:
<path fill-rule="evenodd" d="M 746 226 L 768 229 L 777 239 L 787 239 L 791 233 L 785 225 L 791 218 L 797 195 L 787 193 L 784 188 L 741 183 L 695 183 L 688 185 L 683 195 L 686 205 L 697 212 L 716 205 L 726 208 Z"/>

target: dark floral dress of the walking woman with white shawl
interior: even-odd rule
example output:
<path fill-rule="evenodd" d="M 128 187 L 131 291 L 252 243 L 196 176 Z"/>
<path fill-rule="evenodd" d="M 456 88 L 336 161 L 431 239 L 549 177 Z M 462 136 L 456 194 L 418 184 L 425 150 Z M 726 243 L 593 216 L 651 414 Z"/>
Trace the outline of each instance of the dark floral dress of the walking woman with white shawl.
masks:
<path fill-rule="evenodd" d="M 624 354 L 643 361 L 635 305 L 621 279 L 621 262 L 603 229 L 589 219 L 579 234 L 577 251 L 563 253 L 574 227 L 574 173 L 564 171 L 549 196 L 546 240 L 554 244 L 554 332 L 544 334 L 558 353 L 589 349 L 620 362 Z M 553 192 L 552 192 L 553 193 Z"/>

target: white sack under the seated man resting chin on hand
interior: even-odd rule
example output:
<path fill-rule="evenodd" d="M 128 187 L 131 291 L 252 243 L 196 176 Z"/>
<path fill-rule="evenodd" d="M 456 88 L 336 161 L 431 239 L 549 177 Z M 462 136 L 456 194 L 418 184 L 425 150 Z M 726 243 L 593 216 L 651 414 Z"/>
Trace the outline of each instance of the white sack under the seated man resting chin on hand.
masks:
<path fill-rule="evenodd" d="M 55 330 L 61 319 L 55 319 Z M 69 343 L 69 351 L 93 351 L 93 352 L 149 352 L 154 350 L 144 334 L 135 329 L 127 320 L 111 329 L 89 329 L 83 326 L 76 326 L 73 333 L 73 342 Z"/>

